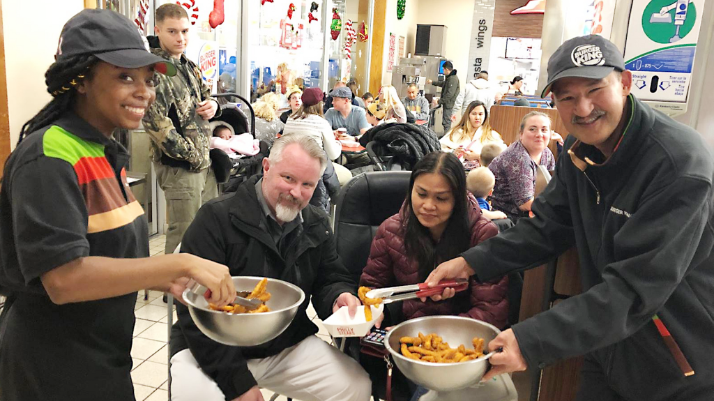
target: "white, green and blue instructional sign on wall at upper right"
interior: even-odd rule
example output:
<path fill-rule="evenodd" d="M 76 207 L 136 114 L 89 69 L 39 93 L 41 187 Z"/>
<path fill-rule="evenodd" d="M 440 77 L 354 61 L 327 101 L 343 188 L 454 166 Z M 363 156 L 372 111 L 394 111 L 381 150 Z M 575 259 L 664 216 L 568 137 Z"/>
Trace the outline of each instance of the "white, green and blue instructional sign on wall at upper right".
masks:
<path fill-rule="evenodd" d="M 625 43 L 632 91 L 647 101 L 685 103 L 704 0 L 634 0 Z"/>

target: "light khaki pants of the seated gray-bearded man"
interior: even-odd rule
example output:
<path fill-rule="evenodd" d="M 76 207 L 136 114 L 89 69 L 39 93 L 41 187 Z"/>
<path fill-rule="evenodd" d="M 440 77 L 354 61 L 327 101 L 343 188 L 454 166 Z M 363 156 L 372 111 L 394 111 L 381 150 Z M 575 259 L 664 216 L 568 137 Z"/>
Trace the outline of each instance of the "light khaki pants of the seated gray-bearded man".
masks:
<path fill-rule="evenodd" d="M 311 335 L 278 355 L 249 359 L 258 386 L 303 401 L 368 401 L 367 372 L 336 347 Z M 216 382 L 198 366 L 190 350 L 171 357 L 171 401 L 224 401 Z"/>

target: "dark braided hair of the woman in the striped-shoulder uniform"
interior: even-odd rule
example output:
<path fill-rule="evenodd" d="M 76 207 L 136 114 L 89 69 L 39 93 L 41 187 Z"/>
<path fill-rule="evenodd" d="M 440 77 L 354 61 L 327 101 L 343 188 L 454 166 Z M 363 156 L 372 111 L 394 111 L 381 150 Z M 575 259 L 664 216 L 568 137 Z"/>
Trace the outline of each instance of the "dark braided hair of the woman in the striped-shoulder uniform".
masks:
<path fill-rule="evenodd" d="M 55 61 L 45 73 L 47 91 L 53 96 L 42 110 L 23 124 L 18 145 L 30 133 L 57 121 L 74 106 L 76 86 L 91 77 L 91 68 L 99 62 L 94 55 L 71 56 Z"/>

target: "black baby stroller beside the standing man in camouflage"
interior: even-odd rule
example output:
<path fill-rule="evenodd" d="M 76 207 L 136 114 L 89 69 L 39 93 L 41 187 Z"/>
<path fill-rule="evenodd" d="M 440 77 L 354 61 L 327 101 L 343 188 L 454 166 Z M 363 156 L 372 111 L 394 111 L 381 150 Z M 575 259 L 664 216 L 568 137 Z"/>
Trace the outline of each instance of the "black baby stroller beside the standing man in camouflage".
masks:
<path fill-rule="evenodd" d="M 251 120 L 248 123 L 248 116 L 236 103 L 224 103 L 221 105 L 221 116 L 211 118 L 210 122 L 220 121 L 233 128 L 234 133 L 250 132 L 253 138 L 256 136 L 256 116 L 253 113 L 251 103 L 238 95 L 238 93 L 218 93 L 212 95 L 215 98 L 238 98 L 250 111 Z M 222 102 L 221 102 L 222 103 Z M 265 141 L 260 142 L 260 151 L 255 156 L 247 156 L 238 159 L 231 159 L 226 152 L 220 149 L 211 149 L 213 159 L 213 170 L 216 171 L 216 179 L 223 177 L 222 182 L 218 182 L 221 193 L 236 191 L 238 185 L 253 174 L 261 171 L 261 161 L 268 156 L 269 146 Z M 222 153 L 222 154 L 221 154 Z M 216 163 L 216 160 L 221 162 Z"/>

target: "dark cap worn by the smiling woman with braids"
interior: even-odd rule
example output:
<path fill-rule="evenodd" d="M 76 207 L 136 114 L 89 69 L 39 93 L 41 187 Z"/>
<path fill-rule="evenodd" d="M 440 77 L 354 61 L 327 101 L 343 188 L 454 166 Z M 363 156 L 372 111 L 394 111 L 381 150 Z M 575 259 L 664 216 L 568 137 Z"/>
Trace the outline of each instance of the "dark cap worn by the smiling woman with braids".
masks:
<path fill-rule="evenodd" d="M 139 29 L 125 16 L 111 10 L 82 10 L 64 24 L 55 60 L 81 54 L 93 54 L 101 61 L 122 68 L 153 64 L 156 71 L 164 75 L 176 75 L 174 63 L 146 50 Z"/>

